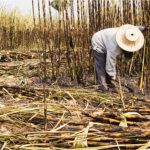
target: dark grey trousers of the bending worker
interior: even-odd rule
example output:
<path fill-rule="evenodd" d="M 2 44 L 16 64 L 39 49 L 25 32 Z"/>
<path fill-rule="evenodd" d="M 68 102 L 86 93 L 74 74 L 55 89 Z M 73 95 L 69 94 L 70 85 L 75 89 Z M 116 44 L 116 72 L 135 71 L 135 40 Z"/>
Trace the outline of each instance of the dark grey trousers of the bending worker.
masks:
<path fill-rule="evenodd" d="M 99 86 L 107 88 L 107 84 L 111 83 L 111 77 L 106 73 L 106 54 L 93 50 L 96 67 L 96 81 Z"/>

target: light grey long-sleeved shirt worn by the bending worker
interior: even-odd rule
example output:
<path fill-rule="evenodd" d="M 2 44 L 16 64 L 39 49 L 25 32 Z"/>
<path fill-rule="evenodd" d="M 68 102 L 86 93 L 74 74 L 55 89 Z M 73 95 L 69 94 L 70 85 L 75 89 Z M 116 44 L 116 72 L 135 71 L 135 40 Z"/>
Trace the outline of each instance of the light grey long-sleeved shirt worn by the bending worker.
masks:
<path fill-rule="evenodd" d="M 106 53 L 106 72 L 111 77 L 116 77 L 116 58 L 122 50 L 116 42 L 118 28 L 108 28 L 96 32 L 92 37 L 93 50 Z"/>

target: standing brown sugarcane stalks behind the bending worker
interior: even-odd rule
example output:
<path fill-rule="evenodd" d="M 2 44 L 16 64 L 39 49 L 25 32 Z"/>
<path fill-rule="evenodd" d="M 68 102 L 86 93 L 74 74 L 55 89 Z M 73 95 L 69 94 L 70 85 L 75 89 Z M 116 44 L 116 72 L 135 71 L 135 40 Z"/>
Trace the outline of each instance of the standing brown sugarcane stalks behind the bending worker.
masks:
<path fill-rule="evenodd" d="M 40 0 L 32 0 L 31 4 L 32 20 L 22 19 L 18 13 L 0 12 L 0 19 L 3 20 L 0 24 L 0 48 L 40 49 L 46 41 L 46 53 L 50 60 L 47 73 L 54 80 L 70 77 L 76 83 L 87 83 L 88 74 L 93 73 L 91 37 L 96 31 L 127 23 L 147 27 L 150 24 L 148 0 L 49 0 L 46 4 L 49 7 L 45 17 L 46 27 L 42 21 Z M 37 18 L 34 13 L 36 8 Z M 57 15 L 53 15 L 52 9 Z M 41 36 L 43 29 L 45 38 Z M 139 75 L 141 88 L 144 83 L 148 86 L 150 82 L 150 27 L 144 35 L 145 48 L 137 52 L 131 62 L 126 63 L 123 58 L 118 62 L 121 75 Z"/>

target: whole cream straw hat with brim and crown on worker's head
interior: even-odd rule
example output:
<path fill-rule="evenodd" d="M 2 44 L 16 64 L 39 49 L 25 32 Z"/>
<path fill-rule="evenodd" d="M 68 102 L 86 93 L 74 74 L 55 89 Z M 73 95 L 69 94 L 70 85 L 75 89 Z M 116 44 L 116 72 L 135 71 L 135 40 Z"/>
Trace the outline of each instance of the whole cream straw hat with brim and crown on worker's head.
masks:
<path fill-rule="evenodd" d="M 119 27 L 116 41 L 120 48 L 128 52 L 140 50 L 144 45 L 144 36 L 138 27 L 130 24 Z"/>

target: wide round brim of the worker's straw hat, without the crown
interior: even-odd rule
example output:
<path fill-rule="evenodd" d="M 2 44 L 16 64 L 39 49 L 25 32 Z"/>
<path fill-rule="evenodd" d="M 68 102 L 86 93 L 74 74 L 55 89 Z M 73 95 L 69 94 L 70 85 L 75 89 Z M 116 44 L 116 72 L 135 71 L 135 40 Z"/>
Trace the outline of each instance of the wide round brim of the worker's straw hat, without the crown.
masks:
<path fill-rule="evenodd" d="M 137 28 L 137 27 L 134 25 L 126 24 L 126 25 L 119 27 L 117 34 L 116 34 L 117 44 L 119 45 L 121 49 L 128 51 L 128 52 L 138 51 L 144 45 L 144 36 L 138 28 L 137 28 L 138 30 L 136 30 L 136 33 L 138 34 L 138 39 L 135 42 L 129 41 L 125 37 L 125 32 L 128 29 L 134 29 L 134 28 Z"/>

